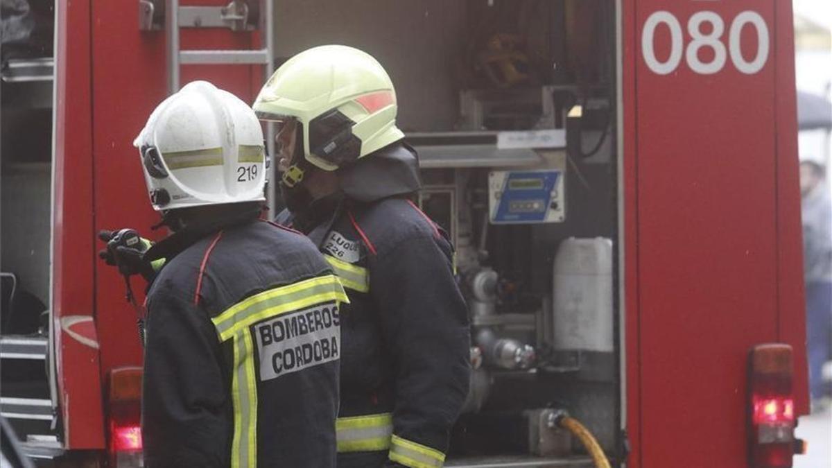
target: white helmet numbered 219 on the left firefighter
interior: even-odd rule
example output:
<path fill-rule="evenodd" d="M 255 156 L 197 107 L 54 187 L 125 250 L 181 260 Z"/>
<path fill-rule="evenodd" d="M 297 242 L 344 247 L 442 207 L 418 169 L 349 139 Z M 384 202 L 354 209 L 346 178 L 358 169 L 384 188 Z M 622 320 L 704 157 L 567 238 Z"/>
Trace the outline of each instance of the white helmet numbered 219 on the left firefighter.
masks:
<path fill-rule="evenodd" d="M 161 102 L 133 145 L 157 211 L 265 200 L 263 131 L 255 113 L 210 82 Z"/>

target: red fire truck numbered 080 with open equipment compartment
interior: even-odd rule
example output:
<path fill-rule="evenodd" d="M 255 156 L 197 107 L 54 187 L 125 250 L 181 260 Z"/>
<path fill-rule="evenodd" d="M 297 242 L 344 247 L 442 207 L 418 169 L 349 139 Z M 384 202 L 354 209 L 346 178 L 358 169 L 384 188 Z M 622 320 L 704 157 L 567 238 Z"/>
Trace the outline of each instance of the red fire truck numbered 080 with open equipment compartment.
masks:
<path fill-rule="evenodd" d="M 32 456 L 141 466 L 141 344 L 96 234 L 164 236 L 131 146 L 151 110 L 195 79 L 251 102 L 343 43 L 393 77 L 418 201 L 458 247 L 474 371 L 449 466 L 593 466 L 560 411 L 612 466 L 791 466 L 790 2 L 181 3 L 58 1 L 52 53 L 4 52 L 2 415 Z"/>

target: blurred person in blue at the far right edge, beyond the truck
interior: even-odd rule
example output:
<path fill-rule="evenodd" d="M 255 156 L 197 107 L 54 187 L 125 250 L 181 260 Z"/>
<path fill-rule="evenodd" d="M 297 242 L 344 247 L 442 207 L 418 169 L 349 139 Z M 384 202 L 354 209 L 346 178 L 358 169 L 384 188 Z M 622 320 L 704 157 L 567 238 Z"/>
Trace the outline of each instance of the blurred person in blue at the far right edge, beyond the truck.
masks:
<path fill-rule="evenodd" d="M 806 346 L 813 410 L 828 405 L 823 367 L 832 355 L 832 203 L 825 167 L 800 163 L 803 258 L 806 282 Z"/>

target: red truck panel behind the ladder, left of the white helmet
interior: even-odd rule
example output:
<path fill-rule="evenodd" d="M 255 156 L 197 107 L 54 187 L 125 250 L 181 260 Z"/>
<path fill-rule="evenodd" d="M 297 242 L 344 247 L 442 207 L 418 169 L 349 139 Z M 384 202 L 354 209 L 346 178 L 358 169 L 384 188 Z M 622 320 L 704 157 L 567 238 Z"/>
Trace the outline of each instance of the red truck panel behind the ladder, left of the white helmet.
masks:
<path fill-rule="evenodd" d="M 215 4 L 227 2 L 182 2 Z M 132 146 L 156 105 L 167 95 L 165 33 L 142 32 L 138 8 L 121 2 L 95 2 L 92 8 L 92 136 L 95 159 L 95 227 L 134 227 L 151 238 L 159 221 L 146 194 L 136 148 Z M 183 48 L 250 48 L 251 34 L 226 29 L 183 29 Z M 183 67 L 182 85 L 205 79 L 253 100 L 252 73 L 260 67 Z M 163 230 L 164 231 L 164 230 Z M 102 375 L 116 366 L 141 366 L 134 312 L 124 298 L 124 283 L 114 268 L 96 266 L 97 329 L 102 346 Z M 133 279 L 139 296 L 145 283 Z M 142 297 L 138 298 L 141 301 Z"/>

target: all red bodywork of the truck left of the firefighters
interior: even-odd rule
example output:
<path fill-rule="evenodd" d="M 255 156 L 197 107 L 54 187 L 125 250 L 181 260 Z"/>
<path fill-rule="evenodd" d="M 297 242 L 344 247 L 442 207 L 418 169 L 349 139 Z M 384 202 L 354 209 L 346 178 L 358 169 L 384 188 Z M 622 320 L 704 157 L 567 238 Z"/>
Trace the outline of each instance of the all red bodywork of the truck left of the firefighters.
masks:
<path fill-rule="evenodd" d="M 183 2 L 185 4 L 189 2 Z M 190 2 L 223 5 L 225 2 Z M 138 8 L 58 2 L 54 205 L 54 323 L 58 385 L 69 449 L 105 448 L 102 379 L 141 366 L 124 283 L 96 257 L 100 229 L 136 227 L 151 237 L 151 210 L 133 138 L 166 97 L 164 32 L 140 32 Z M 185 30 L 187 48 L 249 48 L 250 33 Z M 183 67 L 182 83 L 207 79 L 252 101 L 260 67 Z M 141 301 L 144 282 L 133 279 Z M 94 320 L 94 326 L 92 326 Z"/>

